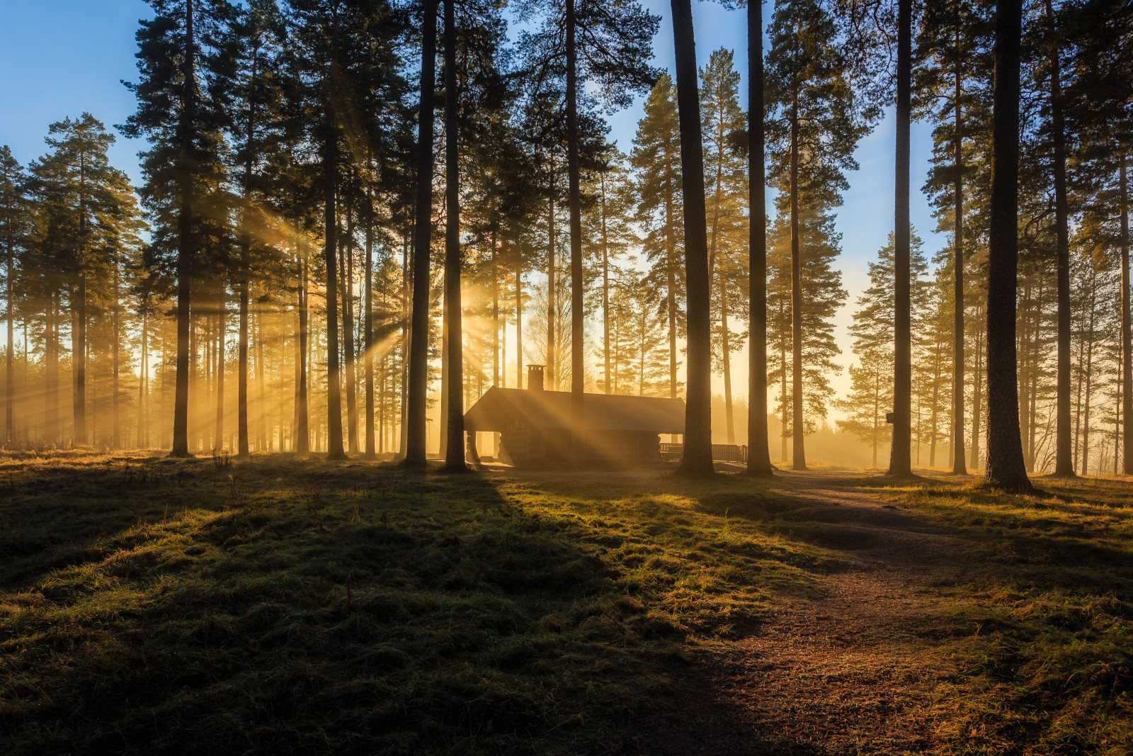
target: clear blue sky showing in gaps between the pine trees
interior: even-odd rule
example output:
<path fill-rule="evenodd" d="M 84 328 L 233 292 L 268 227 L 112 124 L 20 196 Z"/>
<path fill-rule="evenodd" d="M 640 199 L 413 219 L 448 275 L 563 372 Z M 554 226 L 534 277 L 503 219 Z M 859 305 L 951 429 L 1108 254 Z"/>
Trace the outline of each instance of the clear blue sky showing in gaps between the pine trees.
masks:
<path fill-rule="evenodd" d="M 645 5 L 662 16 L 655 40 L 655 65 L 673 69 L 672 22 L 665 0 Z M 770 15 L 770 3 L 764 16 Z M 697 58 L 704 63 L 721 46 L 735 51 L 741 76 L 747 65 L 747 25 L 742 10 L 725 10 L 714 2 L 693 2 Z M 49 124 L 90 111 L 107 124 L 121 124 L 134 110 L 130 93 L 121 80 L 136 77 L 134 33 L 137 20 L 150 11 L 142 0 L 0 0 L 0 144 L 11 147 L 20 162 L 44 152 L 43 137 Z M 746 78 L 746 77 L 744 77 Z M 741 104 L 746 108 L 746 83 L 741 84 Z M 612 116 L 611 137 L 629 150 L 641 97 L 637 104 Z M 853 300 L 866 283 L 868 261 L 885 244 L 893 229 L 893 144 L 891 117 L 862 139 L 857 151 L 861 169 L 852 173 L 844 205 L 838 209 L 837 229 L 842 232 L 843 254 L 840 267 L 847 305 L 838 313 L 838 342 L 842 363 L 850 364 L 850 343 L 845 335 Z M 136 141 L 119 138 L 111 151 L 113 163 L 134 181 L 140 179 Z M 927 125 L 913 126 L 912 139 L 912 220 L 925 252 L 931 256 L 945 239 L 932 232 L 936 223 L 928 202 L 919 192 L 925 184 L 931 147 Z M 738 394 L 746 393 L 746 356 L 735 360 L 741 367 L 733 376 Z M 847 377 L 835 380 L 835 388 L 849 385 Z M 722 390 L 722 387 L 716 387 Z"/>

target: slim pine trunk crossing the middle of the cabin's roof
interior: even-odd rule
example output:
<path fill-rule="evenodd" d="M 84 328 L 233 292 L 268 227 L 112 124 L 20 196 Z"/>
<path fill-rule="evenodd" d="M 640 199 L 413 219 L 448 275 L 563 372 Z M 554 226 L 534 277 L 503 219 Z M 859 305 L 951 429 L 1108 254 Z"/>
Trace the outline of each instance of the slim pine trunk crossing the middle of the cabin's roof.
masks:
<path fill-rule="evenodd" d="M 678 0 L 679 1 L 679 0 Z M 570 212 L 570 417 L 571 461 L 586 462 L 586 421 L 582 416 L 582 198 L 579 190 L 578 49 L 574 42 L 574 0 L 566 3 L 566 173 Z M 691 31 L 691 26 L 690 26 Z M 693 62 L 693 75 L 696 63 Z M 699 122 L 698 122 L 699 127 Z M 699 141 L 697 142 L 699 145 Z M 698 153 L 699 154 L 699 153 Z"/>

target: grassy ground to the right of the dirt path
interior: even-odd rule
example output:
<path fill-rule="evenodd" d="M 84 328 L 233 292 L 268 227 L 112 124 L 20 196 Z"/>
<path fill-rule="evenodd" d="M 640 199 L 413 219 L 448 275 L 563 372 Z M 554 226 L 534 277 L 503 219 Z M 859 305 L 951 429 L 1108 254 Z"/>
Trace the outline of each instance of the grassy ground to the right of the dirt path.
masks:
<path fill-rule="evenodd" d="M 1133 753 L 1133 483 L 1036 483 L 1043 495 L 955 479 L 883 494 L 960 544 L 926 628 L 956 668 L 938 733 L 956 754 Z"/>

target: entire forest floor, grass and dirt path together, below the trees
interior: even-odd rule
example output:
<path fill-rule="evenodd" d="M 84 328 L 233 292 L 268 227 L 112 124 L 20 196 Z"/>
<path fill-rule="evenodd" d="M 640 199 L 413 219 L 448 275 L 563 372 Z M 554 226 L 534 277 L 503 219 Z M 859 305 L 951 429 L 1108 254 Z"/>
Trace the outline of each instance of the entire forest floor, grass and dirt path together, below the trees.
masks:
<path fill-rule="evenodd" d="M 0 753 L 1124 754 L 1133 483 L 0 456 Z"/>

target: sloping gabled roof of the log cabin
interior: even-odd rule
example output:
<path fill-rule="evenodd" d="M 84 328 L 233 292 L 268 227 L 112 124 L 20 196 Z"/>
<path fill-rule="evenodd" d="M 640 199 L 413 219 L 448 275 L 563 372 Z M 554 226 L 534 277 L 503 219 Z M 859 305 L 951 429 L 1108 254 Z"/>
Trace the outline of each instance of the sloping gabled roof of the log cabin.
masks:
<path fill-rule="evenodd" d="M 465 414 L 469 431 L 503 431 L 512 421 L 531 427 L 569 428 L 569 391 L 529 391 L 492 387 Z M 615 393 L 582 394 L 582 414 L 589 431 L 684 433 L 684 401 Z"/>

